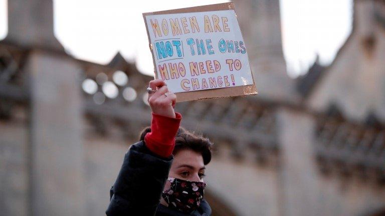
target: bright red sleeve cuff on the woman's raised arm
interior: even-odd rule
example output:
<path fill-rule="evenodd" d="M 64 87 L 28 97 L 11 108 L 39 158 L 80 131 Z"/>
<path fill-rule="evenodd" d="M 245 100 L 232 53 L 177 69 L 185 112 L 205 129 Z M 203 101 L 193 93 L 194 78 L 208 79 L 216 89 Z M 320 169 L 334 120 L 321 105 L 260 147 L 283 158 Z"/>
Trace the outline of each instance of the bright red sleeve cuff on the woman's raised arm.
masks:
<path fill-rule="evenodd" d="M 175 135 L 182 115 L 175 112 L 175 118 L 152 113 L 151 132 L 144 137 L 144 142 L 153 153 L 169 157 L 174 150 Z"/>

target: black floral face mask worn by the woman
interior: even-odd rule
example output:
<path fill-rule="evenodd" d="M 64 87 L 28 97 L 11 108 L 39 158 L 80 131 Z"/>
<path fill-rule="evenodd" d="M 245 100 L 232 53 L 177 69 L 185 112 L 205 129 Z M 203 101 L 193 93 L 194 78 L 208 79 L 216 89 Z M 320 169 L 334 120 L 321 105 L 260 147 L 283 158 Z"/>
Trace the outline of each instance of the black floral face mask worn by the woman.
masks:
<path fill-rule="evenodd" d="M 170 188 L 162 192 L 162 197 L 169 208 L 189 213 L 197 209 L 203 199 L 205 182 L 187 181 L 179 178 L 167 178 Z"/>

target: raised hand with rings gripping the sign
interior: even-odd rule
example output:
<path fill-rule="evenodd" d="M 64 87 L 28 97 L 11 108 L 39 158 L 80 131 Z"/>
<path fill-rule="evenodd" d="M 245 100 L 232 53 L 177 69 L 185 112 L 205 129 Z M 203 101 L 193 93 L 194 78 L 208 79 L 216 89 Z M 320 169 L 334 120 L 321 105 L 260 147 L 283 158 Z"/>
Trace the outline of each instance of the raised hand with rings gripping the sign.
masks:
<path fill-rule="evenodd" d="M 163 80 L 154 79 L 148 84 L 150 88 L 156 90 L 148 93 L 148 103 L 153 113 L 166 117 L 175 118 L 174 106 L 176 95 L 168 91 L 167 85 Z"/>

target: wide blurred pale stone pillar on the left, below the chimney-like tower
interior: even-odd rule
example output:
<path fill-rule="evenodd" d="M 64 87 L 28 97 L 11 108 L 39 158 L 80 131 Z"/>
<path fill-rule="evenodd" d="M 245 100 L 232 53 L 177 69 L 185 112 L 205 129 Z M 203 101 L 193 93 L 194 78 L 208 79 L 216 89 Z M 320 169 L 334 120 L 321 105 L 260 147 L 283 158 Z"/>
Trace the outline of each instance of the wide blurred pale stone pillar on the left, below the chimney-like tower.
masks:
<path fill-rule="evenodd" d="M 65 54 L 38 50 L 29 55 L 26 69 L 32 94 L 32 215 L 85 215 L 80 69 Z"/>

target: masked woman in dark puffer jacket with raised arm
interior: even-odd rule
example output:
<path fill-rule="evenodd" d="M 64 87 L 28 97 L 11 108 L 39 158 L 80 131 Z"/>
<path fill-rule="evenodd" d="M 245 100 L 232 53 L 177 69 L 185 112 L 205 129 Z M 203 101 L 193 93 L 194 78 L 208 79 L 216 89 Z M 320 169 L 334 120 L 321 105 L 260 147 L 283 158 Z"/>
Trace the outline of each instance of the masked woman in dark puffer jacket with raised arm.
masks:
<path fill-rule="evenodd" d="M 140 141 L 124 156 L 106 214 L 211 215 L 203 199 L 203 177 L 212 143 L 179 128 L 176 95 L 164 81 L 152 80 L 148 89 L 151 127 L 143 130 Z"/>

